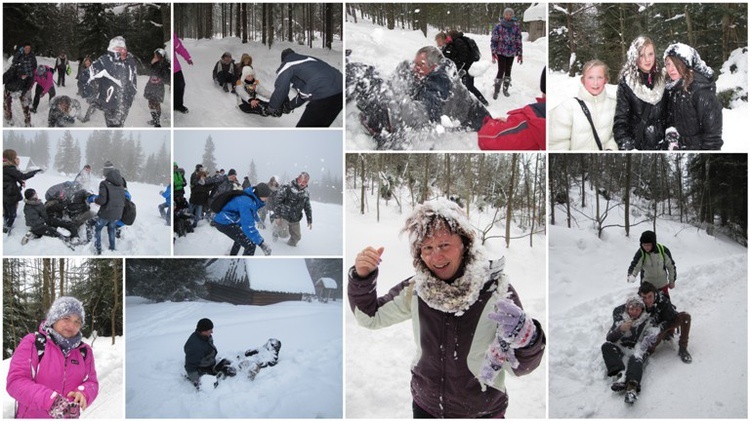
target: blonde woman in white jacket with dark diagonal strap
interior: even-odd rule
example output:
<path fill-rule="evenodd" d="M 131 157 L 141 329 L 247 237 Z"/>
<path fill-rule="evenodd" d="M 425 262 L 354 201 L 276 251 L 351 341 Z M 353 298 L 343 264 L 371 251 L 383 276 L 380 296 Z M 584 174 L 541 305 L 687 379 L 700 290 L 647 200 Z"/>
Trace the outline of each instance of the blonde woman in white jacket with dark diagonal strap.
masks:
<path fill-rule="evenodd" d="M 608 73 L 607 65 L 599 60 L 583 65 L 578 97 L 564 101 L 550 113 L 549 149 L 618 149 L 612 133 L 617 100 L 607 93 Z"/>

